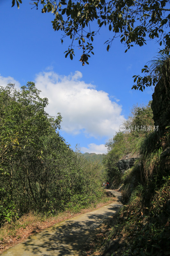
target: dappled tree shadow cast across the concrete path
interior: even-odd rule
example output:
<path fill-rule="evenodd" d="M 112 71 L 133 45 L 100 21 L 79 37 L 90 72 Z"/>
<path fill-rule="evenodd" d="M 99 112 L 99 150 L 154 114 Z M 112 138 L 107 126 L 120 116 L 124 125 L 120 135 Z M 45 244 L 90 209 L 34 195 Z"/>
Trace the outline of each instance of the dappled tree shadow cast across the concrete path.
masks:
<path fill-rule="evenodd" d="M 95 232 L 96 228 L 105 220 L 112 218 L 119 208 L 120 204 L 116 204 L 113 207 L 109 207 L 107 212 L 94 211 L 93 213 L 82 214 L 84 215 L 82 220 L 76 221 L 75 218 L 72 218 L 58 223 L 52 228 L 28 238 L 23 243 L 24 250 L 29 253 L 28 255 L 74 255 L 87 238 Z"/>

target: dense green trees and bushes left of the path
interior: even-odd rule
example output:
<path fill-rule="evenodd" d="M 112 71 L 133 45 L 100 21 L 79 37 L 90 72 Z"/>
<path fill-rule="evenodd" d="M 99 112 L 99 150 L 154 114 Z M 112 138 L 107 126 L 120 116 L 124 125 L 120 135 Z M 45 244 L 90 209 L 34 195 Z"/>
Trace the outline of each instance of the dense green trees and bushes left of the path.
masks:
<path fill-rule="evenodd" d="M 30 210 L 53 214 L 101 196 L 100 164 L 89 164 L 55 132 L 33 82 L 0 88 L 0 223 Z"/>

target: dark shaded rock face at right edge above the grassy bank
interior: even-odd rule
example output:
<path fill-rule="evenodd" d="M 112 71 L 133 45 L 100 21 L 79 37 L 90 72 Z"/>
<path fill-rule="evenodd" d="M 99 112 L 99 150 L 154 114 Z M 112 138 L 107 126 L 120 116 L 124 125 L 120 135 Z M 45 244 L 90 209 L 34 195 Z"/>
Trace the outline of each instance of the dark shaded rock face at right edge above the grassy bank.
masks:
<path fill-rule="evenodd" d="M 152 94 L 151 108 L 153 111 L 154 125 L 159 125 L 159 132 L 165 131 L 170 125 L 170 84 L 159 82 Z"/>

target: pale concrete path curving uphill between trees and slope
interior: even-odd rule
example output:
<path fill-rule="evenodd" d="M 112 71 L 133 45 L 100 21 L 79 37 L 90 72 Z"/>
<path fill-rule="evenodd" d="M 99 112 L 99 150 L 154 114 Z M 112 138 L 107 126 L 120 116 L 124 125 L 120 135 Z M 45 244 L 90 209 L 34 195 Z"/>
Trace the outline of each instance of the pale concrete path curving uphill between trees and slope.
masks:
<path fill-rule="evenodd" d="M 73 256 L 81 255 L 80 248 L 90 235 L 122 207 L 121 193 L 108 189 L 116 201 L 92 212 L 62 221 L 41 233 L 30 236 L 25 242 L 5 251 L 3 256 Z"/>

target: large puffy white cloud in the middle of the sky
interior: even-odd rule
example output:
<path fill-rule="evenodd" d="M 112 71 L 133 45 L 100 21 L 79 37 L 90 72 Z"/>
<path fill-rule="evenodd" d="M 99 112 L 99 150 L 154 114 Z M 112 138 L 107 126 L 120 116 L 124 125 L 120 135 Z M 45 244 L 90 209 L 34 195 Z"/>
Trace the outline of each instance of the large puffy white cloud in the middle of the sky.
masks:
<path fill-rule="evenodd" d="M 82 73 L 60 76 L 53 71 L 36 75 L 35 85 L 47 97 L 47 112 L 63 117 L 62 130 L 70 134 L 83 132 L 87 137 L 112 137 L 125 119 L 122 106 L 109 99 L 108 93 L 97 91 L 81 81 Z"/>

